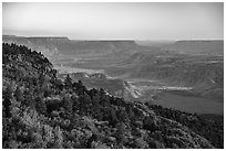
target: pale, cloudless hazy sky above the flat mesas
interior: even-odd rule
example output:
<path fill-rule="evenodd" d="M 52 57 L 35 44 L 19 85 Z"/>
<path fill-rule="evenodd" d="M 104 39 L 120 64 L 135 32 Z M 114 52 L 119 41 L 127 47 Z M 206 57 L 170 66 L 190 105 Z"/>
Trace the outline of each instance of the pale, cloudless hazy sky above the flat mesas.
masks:
<path fill-rule="evenodd" d="M 224 3 L 3 3 L 3 34 L 224 39 Z"/>

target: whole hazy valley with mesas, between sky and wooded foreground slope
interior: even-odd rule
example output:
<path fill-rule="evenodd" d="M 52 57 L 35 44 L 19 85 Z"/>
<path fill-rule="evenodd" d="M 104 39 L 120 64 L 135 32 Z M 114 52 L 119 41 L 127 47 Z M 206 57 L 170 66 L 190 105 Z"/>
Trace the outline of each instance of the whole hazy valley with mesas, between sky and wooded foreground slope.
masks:
<path fill-rule="evenodd" d="M 90 88 L 104 88 L 127 100 L 152 101 L 188 112 L 224 112 L 223 41 L 163 41 L 148 46 L 132 40 L 4 35 L 3 42 L 42 52 L 61 78 L 70 74 L 74 82 L 81 79 Z"/>

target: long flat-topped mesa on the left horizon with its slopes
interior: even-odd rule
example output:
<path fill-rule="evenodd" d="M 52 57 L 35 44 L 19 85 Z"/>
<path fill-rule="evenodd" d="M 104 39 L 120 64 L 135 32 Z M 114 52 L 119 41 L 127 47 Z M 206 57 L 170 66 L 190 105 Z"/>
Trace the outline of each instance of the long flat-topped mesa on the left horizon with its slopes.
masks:
<path fill-rule="evenodd" d="M 123 57 L 124 55 L 134 53 L 137 50 L 146 50 L 146 46 L 140 46 L 132 40 L 102 40 L 102 41 L 75 41 L 68 37 L 56 36 L 2 36 L 4 43 L 16 43 L 25 45 L 29 48 L 42 52 L 48 58 L 52 61 L 60 60 L 59 55 L 111 55 Z"/>

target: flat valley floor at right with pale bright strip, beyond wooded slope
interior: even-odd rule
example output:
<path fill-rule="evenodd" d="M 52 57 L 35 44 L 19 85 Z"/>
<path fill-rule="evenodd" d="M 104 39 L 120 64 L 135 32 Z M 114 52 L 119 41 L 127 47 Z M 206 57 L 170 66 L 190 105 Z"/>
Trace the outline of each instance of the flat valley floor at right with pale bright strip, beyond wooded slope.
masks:
<path fill-rule="evenodd" d="M 154 96 L 152 103 L 155 105 L 191 114 L 224 115 L 224 100 L 178 95 L 174 93 L 174 90 L 186 93 L 187 90 L 191 90 L 192 87 L 168 86 L 167 84 L 164 85 L 164 83 L 148 79 L 133 79 L 131 84 L 136 85 L 140 89 L 146 91 L 145 94 L 152 93 L 151 96 Z"/>

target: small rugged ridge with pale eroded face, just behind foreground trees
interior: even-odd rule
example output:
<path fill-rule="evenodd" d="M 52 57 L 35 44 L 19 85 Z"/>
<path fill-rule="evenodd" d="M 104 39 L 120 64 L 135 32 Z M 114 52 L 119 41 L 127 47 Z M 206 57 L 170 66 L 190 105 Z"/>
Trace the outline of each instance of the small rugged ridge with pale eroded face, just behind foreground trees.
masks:
<path fill-rule="evenodd" d="M 70 75 L 72 82 L 82 80 L 83 85 L 88 88 L 103 88 L 106 93 L 113 96 L 123 97 L 125 100 L 135 100 L 141 96 L 140 90 L 120 78 L 107 77 L 102 73 L 72 73 L 59 74 L 59 78 L 64 79 Z"/>

